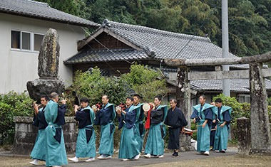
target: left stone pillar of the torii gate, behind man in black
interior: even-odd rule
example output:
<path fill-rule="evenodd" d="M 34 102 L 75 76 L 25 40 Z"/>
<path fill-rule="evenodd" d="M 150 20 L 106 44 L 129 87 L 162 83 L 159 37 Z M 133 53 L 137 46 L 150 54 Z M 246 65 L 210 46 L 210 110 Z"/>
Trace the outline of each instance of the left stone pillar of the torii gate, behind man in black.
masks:
<path fill-rule="evenodd" d="M 180 104 L 180 109 L 182 109 L 186 120 L 188 121 L 188 128 L 191 127 L 191 97 L 190 97 L 190 82 L 188 80 L 189 68 L 187 66 L 181 66 L 178 69 L 177 74 L 177 90 L 176 99 L 178 104 Z M 180 146 L 185 149 L 185 151 L 191 150 L 191 136 L 180 134 Z"/>

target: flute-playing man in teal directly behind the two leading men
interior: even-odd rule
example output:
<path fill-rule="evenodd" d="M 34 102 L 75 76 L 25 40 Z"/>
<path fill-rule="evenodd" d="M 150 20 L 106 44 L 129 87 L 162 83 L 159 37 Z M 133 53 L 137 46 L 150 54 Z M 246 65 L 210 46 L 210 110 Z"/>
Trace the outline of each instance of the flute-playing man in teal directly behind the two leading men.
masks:
<path fill-rule="evenodd" d="M 78 158 L 86 158 L 86 162 L 95 160 L 96 156 L 96 134 L 93 128 L 95 113 L 89 107 L 88 98 L 83 97 L 80 99 L 80 107 L 74 106 L 76 113 L 76 121 L 78 121 L 78 136 L 76 141 L 76 156 L 68 158 L 73 162 L 78 162 Z"/>

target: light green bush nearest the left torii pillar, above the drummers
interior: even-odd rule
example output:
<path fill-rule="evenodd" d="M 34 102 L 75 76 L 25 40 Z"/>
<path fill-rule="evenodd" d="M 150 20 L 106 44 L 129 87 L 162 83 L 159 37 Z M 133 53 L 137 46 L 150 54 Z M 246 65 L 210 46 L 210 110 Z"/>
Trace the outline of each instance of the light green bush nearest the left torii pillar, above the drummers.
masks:
<path fill-rule="evenodd" d="M 144 102 L 153 102 L 155 95 L 165 96 L 167 92 L 165 80 L 159 80 L 158 77 L 162 77 L 158 71 L 150 70 L 144 65 L 131 65 L 131 71 L 121 75 L 121 80 L 126 81 L 132 90 L 141 95 Z"/>

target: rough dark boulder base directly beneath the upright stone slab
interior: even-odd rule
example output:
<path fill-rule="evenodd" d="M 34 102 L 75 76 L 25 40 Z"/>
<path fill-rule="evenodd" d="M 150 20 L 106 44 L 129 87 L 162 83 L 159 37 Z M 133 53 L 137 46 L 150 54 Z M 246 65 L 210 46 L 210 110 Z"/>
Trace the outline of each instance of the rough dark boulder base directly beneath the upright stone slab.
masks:
<path fill-rule="evenodd" d="M 64 82 L 61 80 L 43 80 L 36 79 L 26 83 L 27 90 L 31 99 L 40 101 L 41 95 L 50 95 L 51 92 L 56 92 L 61 95 L 65 90 Z"/>

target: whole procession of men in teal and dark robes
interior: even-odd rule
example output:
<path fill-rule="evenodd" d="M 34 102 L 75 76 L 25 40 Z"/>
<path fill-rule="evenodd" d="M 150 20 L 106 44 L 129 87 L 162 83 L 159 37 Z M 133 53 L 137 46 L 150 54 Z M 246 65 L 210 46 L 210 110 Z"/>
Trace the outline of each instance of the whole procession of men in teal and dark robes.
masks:
<path fill-rule="evenodd" d="M 62 126 L 65 124 L 66 100 L 58 105 L 58 95 L 53 92 L 41 97 L 41 107 L 34 105 L 34 125 L 39 127 L 36 143 L 31 152 L 31 164 L 46 161 L 46 166 L 62 166 L 68 163 L 63 139 Z M 79 158 L 87 158 L 86 162 L 95 160 L 96 133 L 95 126 L 100 125 L 100 146 L 98 159 L 110 159 L 113 156 L 114 119 L 118 119 L 118 129 L 122 129 L 118 158 L 122 161 L 138 160 L 144 147 L 145 158 L 164 157 L 165 125 L 169 130 L 168 149 L 173 150 L 173 157 L 178 157 L 180 148 L 179 135 L 188 124 L 183 112 L 176 107 L 177 101 L 170 99 L 170 109 L 161 105 L 162 97 L 156 96 L 149 109 L 144 110 L 140 103 L 140 95 L 126 98 L 126 107 L 115 107 L 109 103 L 109 97 L 103 95 L 102 107 L 90 107 L 86 97 L 80 99 L 80 107 L 74 105 L 75 119 L 78 121 L 78 136 L 76 141 L 76 156 L 68 158 L 78 162 Z M 220 99 L 221 100 L 221 99 Z M 200 104 L 195 109 L 191 119 L 198 122 L 198 153 L 209 155 L 210 125 L 217 122 L 215 133 L 215 150 L 227 149 L 227 126 L 230 123 L 230 107 L 222 106 L 222 102 L 215 101 L 215 106 L 205 103 L 205 97 L 200 96 Z M 216 113 L 215 119 L 213 113 Z M 45 149 L 44 149 L 45 146 Z"/>

